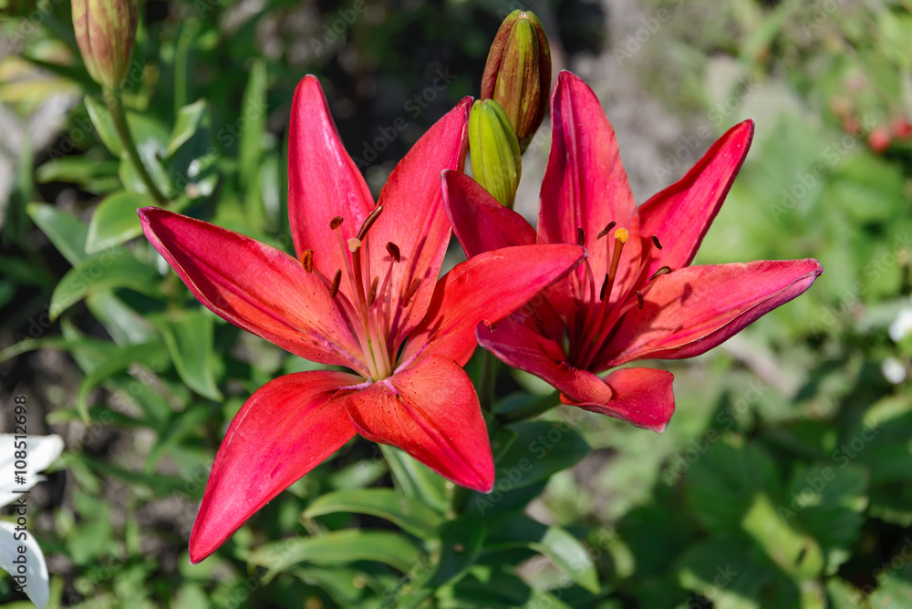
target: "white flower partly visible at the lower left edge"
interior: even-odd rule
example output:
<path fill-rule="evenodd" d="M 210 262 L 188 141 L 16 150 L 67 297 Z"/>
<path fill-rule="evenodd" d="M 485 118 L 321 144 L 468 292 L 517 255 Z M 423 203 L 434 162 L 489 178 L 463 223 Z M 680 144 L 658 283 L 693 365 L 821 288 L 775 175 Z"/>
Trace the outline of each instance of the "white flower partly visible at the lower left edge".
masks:
<path fill-rule="evenodd" d="M 0 434 L 0 508 L 10 503 L 16 504 L 21 498 L 26 498 L 25 518 L 31 523 L 34 522 L 34 516 L 29 495 L 14 490 L 28 490 L 37 482 L 44 480 L 37 473 L 45 470 L 60 456 L 63 451 L 63 439 L 60 436 L 26 436 L 27 473 L 24 484 L 17 483 L 15 478 L 16 450 L 21 450 L 16 448 L 15 442 L 13 434 Z M 16 511 L 13 513 L 18 518 Z M 26 552 L 19 552 L 22 548 L 25 548 Z M 14 563 L 22 556 L 26 559 L 25 573 L 19 571 L 22 563 Z M 25 592 L 39 609 L 47 604 L 50 596 L 47 586 L 47 563 L 29 524 L 21 527 L 16 521 L 0 521 L 0 569 L 14 577 L 18 575 L 25 578 Z"/>

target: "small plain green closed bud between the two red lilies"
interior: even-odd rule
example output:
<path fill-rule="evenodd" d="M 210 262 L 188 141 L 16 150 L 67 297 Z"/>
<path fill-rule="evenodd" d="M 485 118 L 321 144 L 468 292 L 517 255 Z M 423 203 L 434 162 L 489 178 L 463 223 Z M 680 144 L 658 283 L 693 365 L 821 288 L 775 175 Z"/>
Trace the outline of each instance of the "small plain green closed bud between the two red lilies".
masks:
<path fill-rule="evenodd" d="M 523 161 L 510 119 L 493 99 L 478 100 L 472 105 L 469 150 L 472 177 L 494 199 L 513 209 Z"/>

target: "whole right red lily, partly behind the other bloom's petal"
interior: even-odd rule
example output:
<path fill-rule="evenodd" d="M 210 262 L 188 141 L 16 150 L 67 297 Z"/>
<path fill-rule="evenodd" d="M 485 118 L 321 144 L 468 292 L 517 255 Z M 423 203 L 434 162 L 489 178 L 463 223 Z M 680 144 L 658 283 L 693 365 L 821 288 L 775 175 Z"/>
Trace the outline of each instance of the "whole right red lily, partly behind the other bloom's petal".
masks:
<path fill-rule="evenodd" d="M 689 266 L 753 136 L 748 120 L 686 176 L 638 209 L 614 130 L 595 93 L 562 72 L 551 98 L 551 157 L 538 232 L 467 176 L 447 172 L 444 197 L 467 255 L 528 243 L 579 243 L 586 263 L 495 327 L 479 344 L 548 381 L 561 401 L 662 431 L 673 376 L 615 366 L 698 356 L 802 294 L 824 272 L 813 259 Z"/>

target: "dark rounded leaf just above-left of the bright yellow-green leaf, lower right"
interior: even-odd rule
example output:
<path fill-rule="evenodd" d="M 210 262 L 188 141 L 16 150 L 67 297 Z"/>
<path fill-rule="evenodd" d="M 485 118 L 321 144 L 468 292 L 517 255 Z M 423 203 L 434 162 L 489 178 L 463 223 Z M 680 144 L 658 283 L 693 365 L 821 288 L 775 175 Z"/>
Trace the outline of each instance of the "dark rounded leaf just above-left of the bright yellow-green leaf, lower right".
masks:
<path fill-rule="evenodd" d="M 685 492 L 697 519 L 710 531 L 739 531 L 758 492 L 777 496 L 772 461 L 752 444 L 720 441 L 691 467 Z"/>

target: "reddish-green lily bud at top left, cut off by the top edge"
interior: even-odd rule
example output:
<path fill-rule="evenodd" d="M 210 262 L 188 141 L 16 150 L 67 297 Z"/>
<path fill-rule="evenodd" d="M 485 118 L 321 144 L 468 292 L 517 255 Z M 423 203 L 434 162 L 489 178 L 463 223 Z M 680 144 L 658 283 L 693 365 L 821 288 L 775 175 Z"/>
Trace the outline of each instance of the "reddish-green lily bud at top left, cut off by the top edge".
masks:
<path fill-rule="evenodd" d="M 117 88 L 130 70 L 136 42 L 136 0 L 73 0 L 73 28 L 88 75 Z"/>

